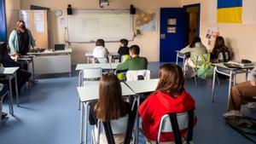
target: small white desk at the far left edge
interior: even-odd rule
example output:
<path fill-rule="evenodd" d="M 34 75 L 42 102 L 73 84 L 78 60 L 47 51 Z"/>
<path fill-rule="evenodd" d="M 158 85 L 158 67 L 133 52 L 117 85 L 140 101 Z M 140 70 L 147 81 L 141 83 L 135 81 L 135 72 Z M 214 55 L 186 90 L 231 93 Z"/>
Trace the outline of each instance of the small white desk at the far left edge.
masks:
<path fill-rule="evenodd" d="M 9 80 L 9 95 L 10 95 L 10 102 L 11 102 L 11 114 L 14 115 L 14 108 L 13 108 L 13 88 L 12 88 L 12 79 L 15 78 L 15 92 L 16 92 L 16 103 L 19 107 L 19 91 L 18 91 L 18 82 L 17 82 L 17 75 L 16 72 L 20 67 L 4 67 L 4 71 L 0 72 L 0 76 L 3 76 L 3 80 Z"/>

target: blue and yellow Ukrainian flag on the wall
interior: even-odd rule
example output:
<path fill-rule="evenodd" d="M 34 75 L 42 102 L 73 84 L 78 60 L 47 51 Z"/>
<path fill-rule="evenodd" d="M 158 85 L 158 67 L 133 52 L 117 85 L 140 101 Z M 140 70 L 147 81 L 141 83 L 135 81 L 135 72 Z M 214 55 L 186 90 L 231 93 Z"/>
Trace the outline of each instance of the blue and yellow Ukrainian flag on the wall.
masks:
<path fill-rule="evenodd" d="M 218 0 L 218 23 L 241 23 L 242 0 Z"/>

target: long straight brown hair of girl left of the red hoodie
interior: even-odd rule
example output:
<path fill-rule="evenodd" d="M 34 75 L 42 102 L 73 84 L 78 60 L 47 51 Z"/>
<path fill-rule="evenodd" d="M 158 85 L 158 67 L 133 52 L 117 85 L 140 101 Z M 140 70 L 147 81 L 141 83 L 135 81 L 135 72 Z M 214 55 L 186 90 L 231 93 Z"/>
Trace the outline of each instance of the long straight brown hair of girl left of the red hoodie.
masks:
<path fill-rule="evenodd" d="M 102 76 L 99 95 L 100 99 L 95 107 L 96 118 L 103 121 L 120 118 L 124 101 L 119 79 L 113 73 Z"/>

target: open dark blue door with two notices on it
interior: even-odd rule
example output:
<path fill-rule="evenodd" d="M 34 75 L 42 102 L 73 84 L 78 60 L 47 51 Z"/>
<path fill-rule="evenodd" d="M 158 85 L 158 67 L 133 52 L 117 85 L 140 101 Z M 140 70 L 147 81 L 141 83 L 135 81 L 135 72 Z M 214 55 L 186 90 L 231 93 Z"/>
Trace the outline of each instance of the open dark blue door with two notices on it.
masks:
<path fill-rule="evenodd" d="M 160 9 L 160 62 L 176 61 L 175 50 L 187 44 L 187 13 L 183 8 Z"/>

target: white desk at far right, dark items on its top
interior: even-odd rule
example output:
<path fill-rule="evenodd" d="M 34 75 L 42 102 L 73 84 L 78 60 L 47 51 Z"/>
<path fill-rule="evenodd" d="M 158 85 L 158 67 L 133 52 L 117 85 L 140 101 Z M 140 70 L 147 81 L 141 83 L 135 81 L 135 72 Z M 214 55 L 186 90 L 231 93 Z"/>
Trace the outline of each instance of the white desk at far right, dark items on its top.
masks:
<path fill-rule="evenodd" d="M 213 71 L 213 80 L 212 80 L 212 102 L 213 102 L 213 96 L 214 96 L 214 89 L 215 89 L 215 79 L 216 79 L 216 72 L 224 74 L 225 76 L 230 77 L 230 83 L 229 83 L 229 95 L 228 95 L 228 103 L 227 103 L 227 109 L 229 109 L 230 106 L 230 93 L 231 93 L 231 87 L 236 84 L 236 74 L 237 73 L 247 73 L 248 69 L 253 68 L 256 65 L 252 66 L 244 66 L 242 68 L 230 68 L 227 66 L 224 66 L 224 63 L 216 63 L 212 64 L 214 66 L 214 71 Z M 224 70 L 227 70 L 227 72 L 221 71 L 218 68 L 222 68 Z M 232 84 L 232 80 L 234 79 L 234 83 Z M 247 79 L 247 78 L 246 78 Z"/>

